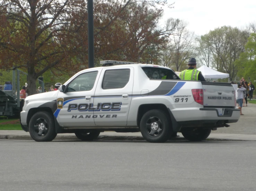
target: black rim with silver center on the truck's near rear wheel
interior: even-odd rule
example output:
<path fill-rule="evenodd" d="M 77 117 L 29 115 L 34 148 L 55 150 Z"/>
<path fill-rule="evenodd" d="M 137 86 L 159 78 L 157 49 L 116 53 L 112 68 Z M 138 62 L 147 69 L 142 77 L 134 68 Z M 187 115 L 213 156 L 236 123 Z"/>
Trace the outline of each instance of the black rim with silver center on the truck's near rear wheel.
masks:
<path fill-rule="evenodd" d="M 151 137 L 158 137 L 162 133 L 162 121 L 158 117 L 150 117 L 146 122 L 146 130 Z"/>

